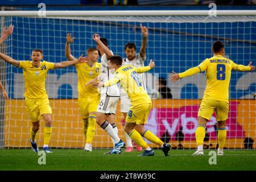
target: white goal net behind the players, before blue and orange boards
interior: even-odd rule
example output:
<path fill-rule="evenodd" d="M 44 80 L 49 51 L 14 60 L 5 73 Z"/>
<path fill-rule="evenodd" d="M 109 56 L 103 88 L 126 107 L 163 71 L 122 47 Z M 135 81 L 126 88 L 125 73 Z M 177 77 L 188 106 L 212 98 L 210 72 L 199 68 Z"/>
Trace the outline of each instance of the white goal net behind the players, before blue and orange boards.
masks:
<path fill-rule="evenodd" d="M 111 12 L 110 12 L 111 14 Z M 70 32 L 75 37 L 72 55 L 86 55 L 86 49 L 96 47 L 94 33 L 108 39 L 109 48 L 125 57 L 125 44 L 133 42 L 137 53 L 142 44 L 142 26 L 148 28 L 146 61 L 155 61 L 155 69 L 147 73 L 148 94 L 153 108 L 146 129 L 151 130 L 173 148 L 195 148 L 197 111 L 205 89 L 205 73 L 183 78 L 175 84 L 169 81 L 172 71 L 183 72 L 195 67 L 205 58 L 212 57 L 212 43 L 225 44 L 225 56 L 237 64 L 256 63 L 255 15 L 130 15 L 130 16 L 8 16 L 1 14 L 0 27 L 14 24 L 13 34 L 1 45 L 1 52 L 16 60 L 30 60 L 32 49 L 43 50 L 44 60 L 65 61 L 65 38 Z M 99 60 L 100 61 L 100 60 Z M 0 61 L 1 82 L 10 100 L 1 95 L 0 147 L 30 147 L 28 119 L 24 106 L 24 80 L 22 69 Z M 158 92 L 159 78 L 167 81 L 172 98 L 165 99 Z M 48 72 L 46 90 L 52 107 L 52 139 L 50 147 L 82 148 L 85 144 L 82 119 L 77 105 L 77 73 L 75 67 Z M 220 93 L 222 94 L 222 93 Z M 255 148 L 256 73 L 232 72 L 230 80 L 229 117 L 226 121 L 226 148 Z M 119 136 L 125 141 L 118 102 L 115 121 Z M 40 119 L 36 136 L 43 146 L 44 122 Z M 150 143 L 150 142 L 148 142 Z M 207 123 L 205 148 L 217 146 L 216 116 Z M 96 126 L 92 142 L 94 148 L 113 147 L 110 137 Z M 152 145 L 152 147 L 157 147 Z"/>

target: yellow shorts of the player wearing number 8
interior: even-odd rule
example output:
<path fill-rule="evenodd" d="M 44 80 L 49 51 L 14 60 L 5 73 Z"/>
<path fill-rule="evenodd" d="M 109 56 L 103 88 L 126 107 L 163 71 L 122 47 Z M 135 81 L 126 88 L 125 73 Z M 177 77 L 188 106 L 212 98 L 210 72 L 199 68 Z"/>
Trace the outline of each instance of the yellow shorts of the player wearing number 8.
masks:
<path fill-rule="evenodd" d="M 212 117 L 214 110 L 216 121 L 226 121 L 229 113 L 229 103 L 203 99 L 198 111 L 198 116 L 209 120 Z"/>

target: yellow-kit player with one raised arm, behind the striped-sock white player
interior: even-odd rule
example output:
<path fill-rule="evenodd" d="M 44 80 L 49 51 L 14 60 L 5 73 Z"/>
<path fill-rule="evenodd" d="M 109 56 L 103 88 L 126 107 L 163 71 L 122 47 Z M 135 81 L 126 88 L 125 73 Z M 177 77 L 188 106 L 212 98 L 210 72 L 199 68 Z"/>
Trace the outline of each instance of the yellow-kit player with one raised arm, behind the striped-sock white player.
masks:
<path fill-rule="evenodd" d="M 65 46 L 65 55 L 68 60 L 75 57 L 71 54 L 70 44 L 73 42 L 72 34 L 67 35 L 67 43 Z M 86 138 L 85 151 L 92 151 L 92 140 L 96 130 L 96 111 L 100 102 L 100 92 L 91 84 L 85 86 L 85 83 L 97 78 L 101 72 L 101 64 L 98 61 L 98 51 L 96 48 L 88 48 L 87 56 L 89 60 L 84 64 L 76 64 L 77 71 L 77 88 L 79 92 L 79 109 L 84 122 L 83 131 Z"/>

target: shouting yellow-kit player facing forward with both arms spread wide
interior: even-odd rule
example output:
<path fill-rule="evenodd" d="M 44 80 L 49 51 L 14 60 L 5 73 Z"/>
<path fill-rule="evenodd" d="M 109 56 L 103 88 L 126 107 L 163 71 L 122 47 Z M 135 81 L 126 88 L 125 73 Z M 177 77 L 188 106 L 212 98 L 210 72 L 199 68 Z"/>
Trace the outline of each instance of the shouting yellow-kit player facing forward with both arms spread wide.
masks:
<path fill-rule="evenodd" d="M 77 63 L 85 63 L 88 59 L 80 56 L 80 58 L 73 61 L 63 61 L 60 63 L 51 63 L 43 60 L 43 52 L 40 49 L 34 49 L 31 54 L 32 61 L 17 61 L 13 58 L 4 55 L 0 52 L 1 59 L 7 63 L 13 64 L 15 67 L 22 68 L 25 82 L 25 105 L 28 116 L 32 122 L 30 129 L 30 142 L 32 149 L 38 152 L 36 144 L 36 133 L 39 130 L 39 117 L 43 117 L 45 121 L 44 127 L 44 146 L 43 151 L 51 153 L 48 144 L 52 136 L 52 109 L 49 105 L 48 95 L 46 92 L 45 81 L 49 69 L 65 68 Z"/>

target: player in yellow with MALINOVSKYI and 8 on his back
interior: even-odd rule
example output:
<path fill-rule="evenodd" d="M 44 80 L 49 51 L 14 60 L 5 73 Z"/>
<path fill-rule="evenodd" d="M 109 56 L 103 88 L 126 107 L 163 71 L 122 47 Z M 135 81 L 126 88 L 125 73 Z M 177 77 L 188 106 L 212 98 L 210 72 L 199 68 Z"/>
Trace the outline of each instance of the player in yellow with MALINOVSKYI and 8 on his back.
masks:
<path fill-rule="evenodd" d="M 205 71 L 207 77 L 207 86 L 204 97 L 201 101 L 198 112 L 198 123 L 196 129 L 197 151 L 193 155 L 203 155 L 203 140 L 205 137 L 205 126 L 207 121 L 212 117 L 213 111 L 216 113 L 218 127 L 218 152 L 217 155 L 224 155 L 223 148 L 226 140 L 226 119 L 229 111 L 229 82 L 231 71 L 250 71 L 253 72 L 255 67 L 249 65 L 237 65 L 224 56 L 224 44 L 220 41 L 214 42 L 212 47 L 213 57 L 205 59 L 197 67 L 188 69 L 183 73 L 175 73 L 170 77 L 172 82 L 196 73 Z"/>

